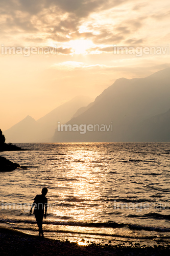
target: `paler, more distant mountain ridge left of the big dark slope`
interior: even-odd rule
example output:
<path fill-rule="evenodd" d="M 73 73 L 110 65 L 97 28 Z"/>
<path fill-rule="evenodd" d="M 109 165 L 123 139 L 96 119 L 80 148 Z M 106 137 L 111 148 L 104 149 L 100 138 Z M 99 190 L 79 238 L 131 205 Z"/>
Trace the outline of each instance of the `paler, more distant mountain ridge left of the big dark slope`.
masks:
<path fill-rule="evenodd" d="M 6 140 L 8 142 L 52 142 L 57 122 L 67 122 L 79 108 L 90 102 L 89 97 L 77 96 L 37 121 L 27 116 L 4 132 Z"/>

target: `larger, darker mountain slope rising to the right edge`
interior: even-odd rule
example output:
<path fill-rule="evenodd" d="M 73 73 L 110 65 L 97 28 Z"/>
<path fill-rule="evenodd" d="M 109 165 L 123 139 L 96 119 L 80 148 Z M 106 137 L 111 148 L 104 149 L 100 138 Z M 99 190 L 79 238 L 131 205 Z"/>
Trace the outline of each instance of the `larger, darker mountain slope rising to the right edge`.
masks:
<path fill-rule="evenodd" d="M 160 118 L 163 118 L 165 115 L 169 118 L 167 114 L 170 108 L 169 81 L 170 68 L 158 71 L 145 78 L 117 79 L 112 86 L 96 97 L 93 103 L 78 111 L 78 114 L 66 123 L 70 125 L 109 125 L 113 122 L 113 132 L 87 131 L 85 134 L 81 134 L 79 131 L 58 132 L 56 130 L 53 141 L 170 141 L 168 132 L 166 136 L 163 136 L 165 122 L 161 124 L 158 119 L 155 126 L 160 127 L 159 129 L 154 128 L 154 116 L 160 115 Z M 169 121 L 166 122 L 166 125 L 168 130 Z M 140 136 L 142 134 L 141 129 L 142 131 L 145 130 L 143 136 Z M 154 131 L 155 136 L 153 136 Z M 162 134 L 162 136 L 158 138 L 159 134 Z"/>

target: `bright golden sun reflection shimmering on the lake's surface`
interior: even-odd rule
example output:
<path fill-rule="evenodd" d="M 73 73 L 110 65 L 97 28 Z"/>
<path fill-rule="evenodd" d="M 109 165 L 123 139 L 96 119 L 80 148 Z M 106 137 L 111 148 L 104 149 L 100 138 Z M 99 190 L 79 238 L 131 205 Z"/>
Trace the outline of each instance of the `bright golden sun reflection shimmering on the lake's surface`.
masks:
<path fill-rule="evenodd" d="M 68 169 L 64 168 L 65 162 Z M 97 201 L 101 198 L 99 180 L 101 164 L 99 163 L 101 163 L 101 155 L 98 152 L 89 151 L 88 148 L 82 150 L 79 146 L 76 151 L 69 152 L 59 165 L 62 173 L 55 172 L 56 190 L 53 190 L 52 194 L 58 196 L 63 204 L 53 209 L 53 214 L 70 218 L 77 215 L 81 221 L 85 221 L 88 216 L 93 219 L 95 212 L 92 205 L 96 204 L 93 199 Z"/>

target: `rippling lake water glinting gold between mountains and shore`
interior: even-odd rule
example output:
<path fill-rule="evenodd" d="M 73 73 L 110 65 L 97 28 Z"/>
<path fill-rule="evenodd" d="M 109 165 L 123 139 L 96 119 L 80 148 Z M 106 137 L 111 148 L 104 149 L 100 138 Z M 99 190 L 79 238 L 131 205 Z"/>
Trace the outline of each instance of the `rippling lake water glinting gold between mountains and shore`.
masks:
<path fill-rule="evenodd" d="M 79 244 L 170 240 L 170 143 L 17 143 L 1 173 L 0 225 L 37 234 L 30 205 L 48 188 L 46 237 Z M 11 204 L 11 205 L 10 205 Z"/>

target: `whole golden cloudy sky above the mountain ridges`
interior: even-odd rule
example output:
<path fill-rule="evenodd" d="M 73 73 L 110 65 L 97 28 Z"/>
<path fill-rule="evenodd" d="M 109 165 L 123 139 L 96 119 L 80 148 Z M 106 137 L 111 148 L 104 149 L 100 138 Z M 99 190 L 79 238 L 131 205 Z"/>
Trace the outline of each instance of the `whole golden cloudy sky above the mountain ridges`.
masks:
<path fill-rule="evenodd" d="M 37 120 L 77 95 L 94 99 L 117 78 L 169 67 L 167 51 L 142 56 L 113 51 L 113 46 L 169 48 L 169 0 L 1 0 L 0 12 L 3 131 L 27 115 Z M 20 50 L 4 54 L 5 47 Z M 39 54 L 35 48 L 30 56 L 21 52 L 32 47 L 41 47 Z"/>

